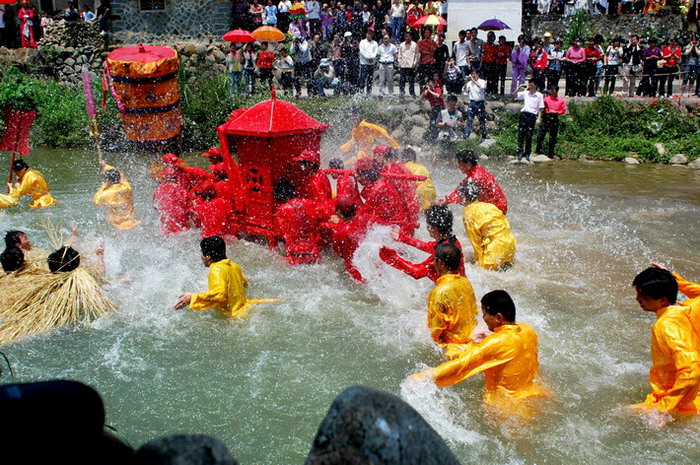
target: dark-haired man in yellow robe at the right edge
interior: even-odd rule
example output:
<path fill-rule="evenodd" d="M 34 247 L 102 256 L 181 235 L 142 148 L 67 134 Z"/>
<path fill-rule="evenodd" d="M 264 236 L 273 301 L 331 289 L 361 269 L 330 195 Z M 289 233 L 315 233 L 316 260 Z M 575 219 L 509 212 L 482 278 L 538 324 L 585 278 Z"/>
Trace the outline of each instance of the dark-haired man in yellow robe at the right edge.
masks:
<path fill-rule="evenodd" d="M 693 317 L 697 302 L 678 304 L 678 285 L 670 271 L 657 267 L 647 268 L 632 281 L 639 306 L 656 314 L 651 330 L 651 393 L 633 409 L 644 412 L 656 426 L 671 421 L 673 414 L 700 411 L 700 321 Z M 683 287 L 692 295 L 698 292 L 693 283 L 684 281 Z"/>

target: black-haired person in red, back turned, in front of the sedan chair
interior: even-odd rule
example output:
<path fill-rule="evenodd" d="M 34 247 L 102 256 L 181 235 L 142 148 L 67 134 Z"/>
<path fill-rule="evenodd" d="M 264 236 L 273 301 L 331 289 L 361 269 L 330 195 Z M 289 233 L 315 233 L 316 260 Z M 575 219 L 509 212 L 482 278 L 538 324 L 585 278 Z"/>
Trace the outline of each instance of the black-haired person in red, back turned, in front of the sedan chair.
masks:
<path fill-rule="evenodd" d="M 294 184 L 281 178 L 273 190 L 275 200 L 282 204 L 275 212 L 274 231 L 284 241 L 287 261 L 291 265 L 311 265 L 321 259 L 319 222 L 330 218 L 329 204 L 302 199 Z"/>

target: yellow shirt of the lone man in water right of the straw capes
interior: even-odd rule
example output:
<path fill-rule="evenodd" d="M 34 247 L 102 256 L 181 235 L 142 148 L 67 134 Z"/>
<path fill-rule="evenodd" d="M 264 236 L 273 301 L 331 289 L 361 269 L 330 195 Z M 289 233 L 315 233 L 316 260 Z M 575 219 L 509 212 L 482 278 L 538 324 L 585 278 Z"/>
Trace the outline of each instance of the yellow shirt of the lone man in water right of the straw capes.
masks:
<path fill-rule="evenodd" d="M 243 318 L 247 315 L 248 280 L 237 263 L 229 259 L 212 263 L 209 267 L 208 282 L 207 292 L 192 294 L 191 310 L 216 308 L 229 318 Z"/>

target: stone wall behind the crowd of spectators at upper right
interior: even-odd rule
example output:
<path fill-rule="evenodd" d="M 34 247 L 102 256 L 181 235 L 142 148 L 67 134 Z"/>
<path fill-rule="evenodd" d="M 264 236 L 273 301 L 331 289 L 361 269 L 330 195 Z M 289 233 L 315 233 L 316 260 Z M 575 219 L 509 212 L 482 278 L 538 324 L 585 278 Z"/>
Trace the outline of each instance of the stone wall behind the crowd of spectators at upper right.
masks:
<path fill-rule="evenodd" d="M 554 37 L 565 37 L 569 33 L 572 21 L 572 16 L 563 15 L 523 17 L 523 32 L 540 37 L 545 32 L 550 32 Z M 618 17 L 589 15 L 586 25 L 591 35 L 600 33 L 606 38 L 614 36 L 626 38 L 630 34 L 639 34 L 641 37 L 670 38 L 683 30 L 680 15 L 620 15 Z"/>

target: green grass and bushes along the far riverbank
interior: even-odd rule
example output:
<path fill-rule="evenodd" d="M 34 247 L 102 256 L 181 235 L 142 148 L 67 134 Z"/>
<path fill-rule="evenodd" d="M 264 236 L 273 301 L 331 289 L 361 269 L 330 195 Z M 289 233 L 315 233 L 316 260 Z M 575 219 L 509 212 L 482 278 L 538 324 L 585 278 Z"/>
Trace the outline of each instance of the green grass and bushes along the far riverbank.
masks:
<path fill-rule="evenodd" d="M 0 72 L 0 83 L 6 72 Z M 269 98 L 261 89 L 253 97 L 230 97 L 225 76 L 199 79 L 187 84 L 181 79 L 181 109 L 185 121 L 184 148 L 204 150 L 218 144 L 213 128 L 223 124 L 236 108 L 250 107 Z M 32 131 L 34 146 L 89 147 L 88 121 L 82 87 L 59 84 L 45 78 L 31 78 L 31 91 L 38 117 Z M 260 86 L 261 88 L 263 86 Z M 99 92 L 99 83 L 95 89 Z M 0 96 L 0 100 L 1 100 Z M 99 95 L 97 95 L 99 99 Z M 350 97 L 293 99 L 282 92 L 278 97 L 291 100 L 312 117 L 330 123 L 329 136 L 347 137 L 350 125 L 347 110 L 353 105 L 364 108 L 368 120 L 393 129 L 401 123 L 386 111 L 387 104 L 376 99 Z M 128 144 L 120 130 L 120 119 L 113 98 L 98 119 L 103 142 L 112 150 L 126 150 Z M 517 152 L 518 114 L 498 113 L 499 129 L 493 136 L 497 144 L 488 155 L 515 155 Z M 661 142 L 668 154 L 661 157 L 654 143 Z M 471 147 L 472 141 L 462 145 Z M 533 147 L 534 149 L 534 147 Z M 690 160 L 700 157 L 700 114 L 681 111 L 676 105 L 659 100 L 655 104 L 625 102 L 600 97 L 586 105 L 572 103 L 569 114 L 561 119 L 557 152 L 568 159 L 622 160 L 637 156 L 647 162 L 667 162 L 677 153 Z"/>

